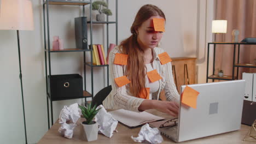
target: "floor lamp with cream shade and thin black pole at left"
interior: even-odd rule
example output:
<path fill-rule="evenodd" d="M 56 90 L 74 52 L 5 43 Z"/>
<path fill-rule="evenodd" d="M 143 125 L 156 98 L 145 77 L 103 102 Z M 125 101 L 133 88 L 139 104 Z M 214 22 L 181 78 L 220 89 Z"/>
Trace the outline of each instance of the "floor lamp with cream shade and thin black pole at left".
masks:
<path fill-rule="evenodd" d="M 1 2 L 0 30 L 16 30 L 17 31 L 19 65 L 20 65 L 19 78 L 20 78 L 20 86 L 21 86 L 23 115 L 24 115 L 25 140 L 27 143 L 26 118 L 25 118 L 25 109 L 24 109 L 21 60 L 20 60 L 19 30 L 32 31 L 34 29 L 33 9 L 32 9 L 32 4 L 30 0 L 2 0 L 0 2 Z"/>

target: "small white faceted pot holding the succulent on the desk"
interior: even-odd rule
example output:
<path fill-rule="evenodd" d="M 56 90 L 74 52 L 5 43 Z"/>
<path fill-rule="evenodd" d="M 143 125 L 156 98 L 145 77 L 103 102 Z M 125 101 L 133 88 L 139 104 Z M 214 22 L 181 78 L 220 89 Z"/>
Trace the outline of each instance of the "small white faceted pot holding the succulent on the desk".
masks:
<path fill-rule="evenodd" d="M 84 132 L 86 135 L 87 141 L 95 141 L 98 139 L 98 123 L 94 124 L 83 124 Z"/>

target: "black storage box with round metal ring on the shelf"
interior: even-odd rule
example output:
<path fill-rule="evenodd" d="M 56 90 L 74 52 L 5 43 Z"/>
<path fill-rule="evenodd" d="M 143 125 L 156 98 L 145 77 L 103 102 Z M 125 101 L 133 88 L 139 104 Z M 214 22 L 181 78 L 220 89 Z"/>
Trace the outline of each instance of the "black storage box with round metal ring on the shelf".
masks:
<path fill-rule="evenodd" d="M 79 74 L 51 75 L 48 78 L 52 100 L 83 97 L 83 78 Z"/>

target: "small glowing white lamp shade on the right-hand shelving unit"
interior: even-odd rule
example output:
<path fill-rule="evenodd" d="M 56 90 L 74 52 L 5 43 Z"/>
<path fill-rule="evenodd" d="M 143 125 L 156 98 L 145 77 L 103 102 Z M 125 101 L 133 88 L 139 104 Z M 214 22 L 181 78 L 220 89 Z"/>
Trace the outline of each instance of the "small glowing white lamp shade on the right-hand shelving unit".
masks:
<path fill-rule="evenodd" d="M 226 33 L 226 20 L 213 20 L 212 21 L 212 33 Z"/>

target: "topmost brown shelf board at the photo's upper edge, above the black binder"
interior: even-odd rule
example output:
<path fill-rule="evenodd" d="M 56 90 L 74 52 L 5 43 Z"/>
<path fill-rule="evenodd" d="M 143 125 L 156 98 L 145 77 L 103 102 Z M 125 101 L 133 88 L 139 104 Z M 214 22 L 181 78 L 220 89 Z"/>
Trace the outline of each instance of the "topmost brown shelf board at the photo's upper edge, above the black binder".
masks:
<path fill-rule="evenodd" d="M 44 1 L 44 4 L 46 4 L 46 0 Z M 53 5 L 87 5 L 87 4 L 90 4 L 90 2 L 89 1 L 82 2 L 82 1 L 49 0 L 48 4 L 53 4 Z"/>

